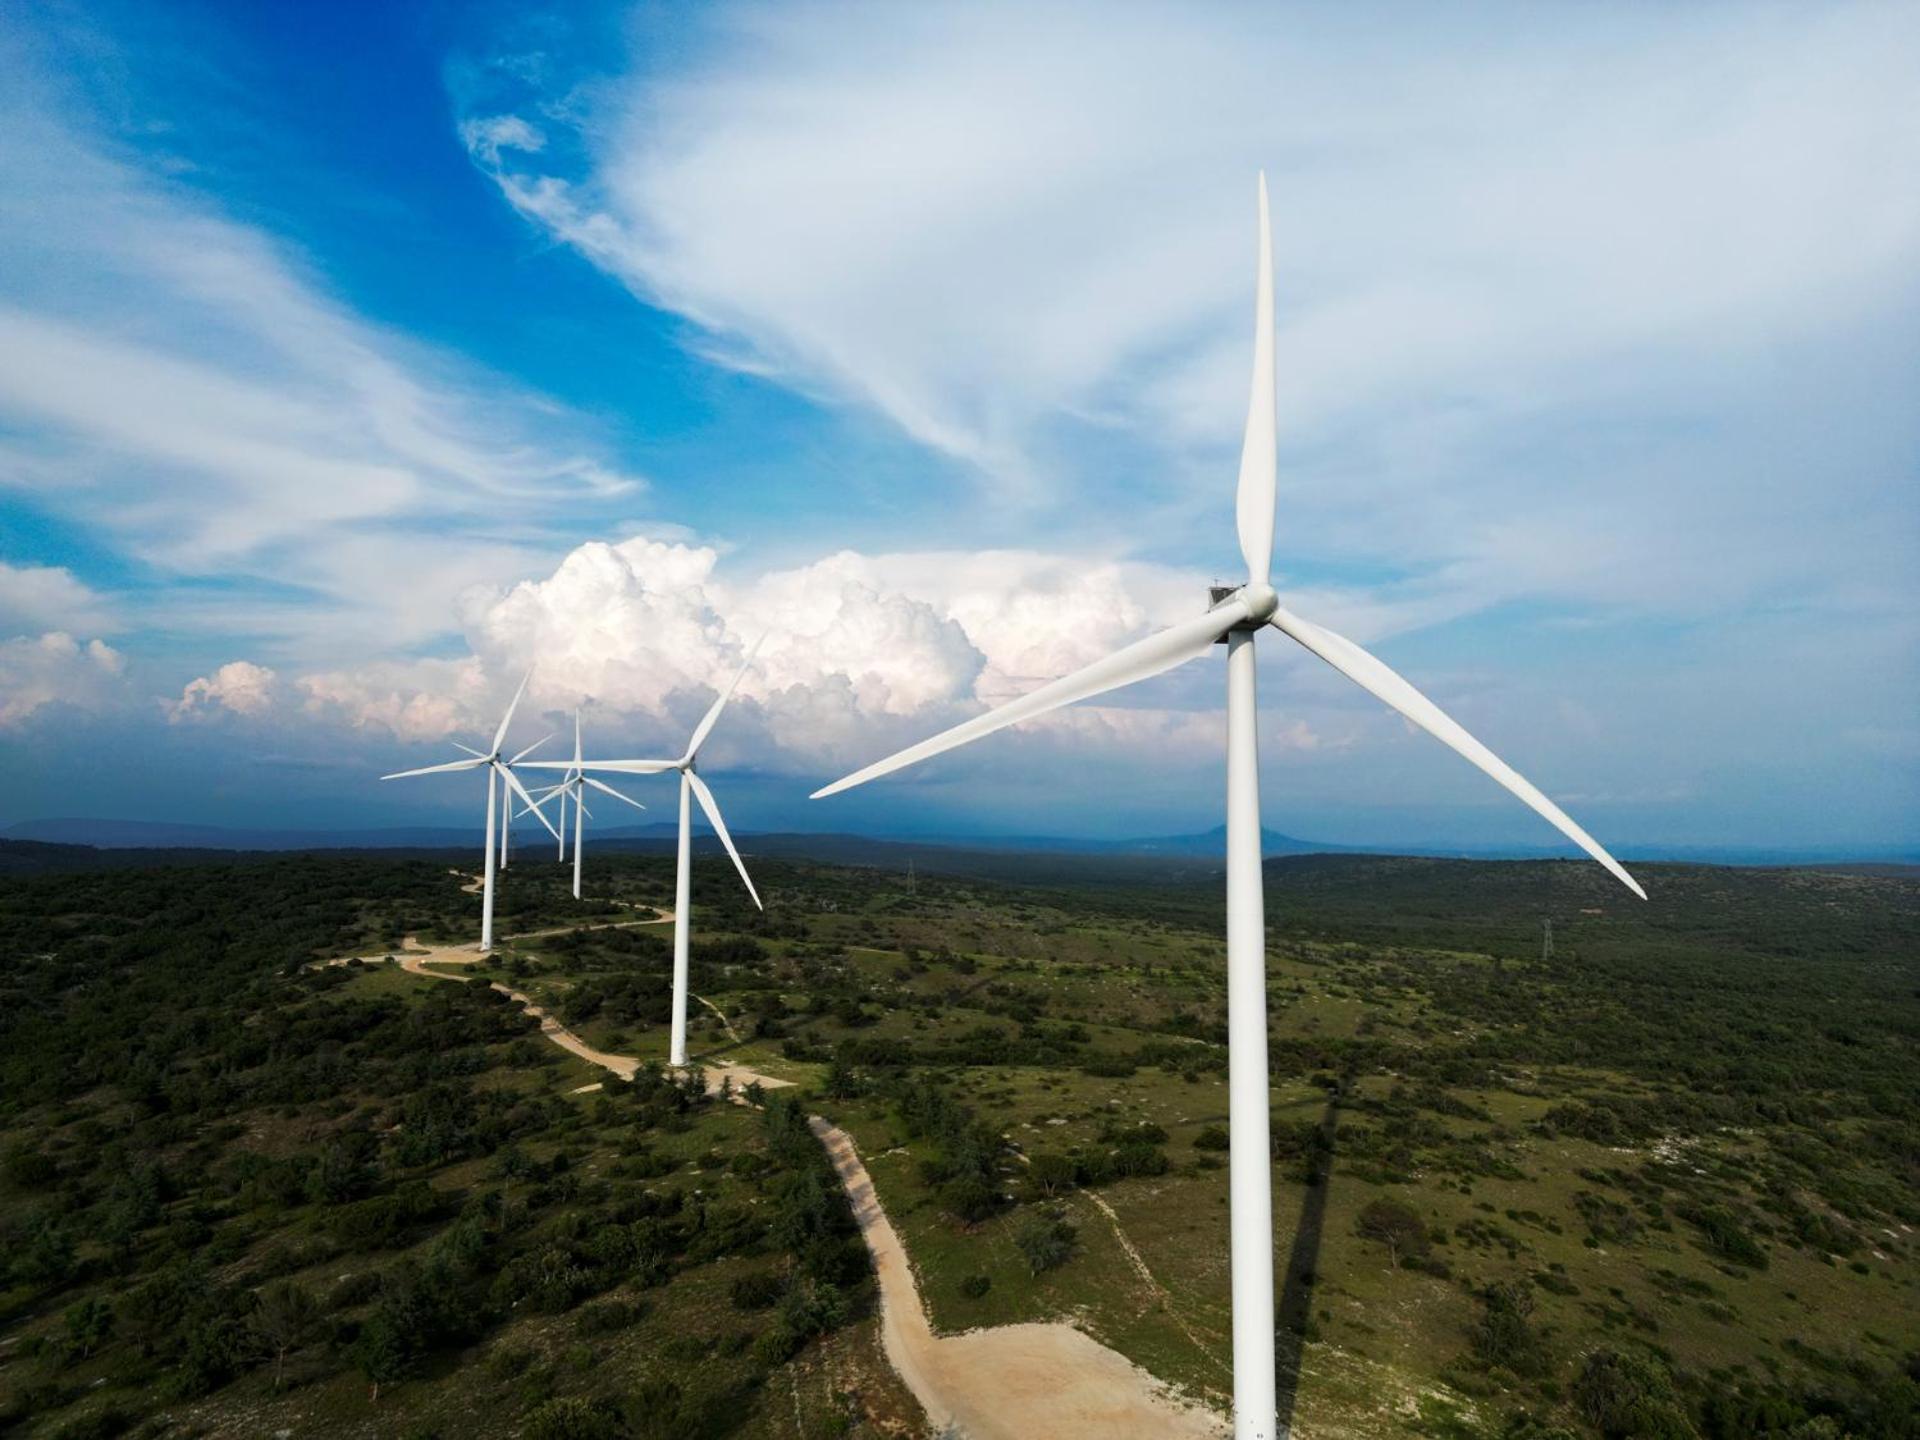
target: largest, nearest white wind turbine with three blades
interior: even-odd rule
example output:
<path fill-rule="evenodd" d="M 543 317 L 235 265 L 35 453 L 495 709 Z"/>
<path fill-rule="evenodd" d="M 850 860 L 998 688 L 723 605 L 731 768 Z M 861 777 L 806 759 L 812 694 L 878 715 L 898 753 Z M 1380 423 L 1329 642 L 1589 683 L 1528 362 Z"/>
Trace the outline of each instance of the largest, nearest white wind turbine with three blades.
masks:
<path fill-rule="evenodd" d="M 1640 899 L 1645 891 L 1553 801 L 1515 774 L 1386 664 L 1344 636 L 1281 605 L 1271 584 L 1275 501 L 1273 242 L 1267 177 L 1260 177 L 1260 276 L 1254 292 L 1254 390 L 1240 445 L 1236 528 L 1246 584 L 1215 589 L 1204 614 L 1135 641 L 1062 680 L 966 720 L 899 755 L 814 791 L 814 799 L 925 760 L 995 730 L 1171 670 L 1227 643 L 1227 1075 L 1233 1250 L 1233 1411 L 1236 1440 L 1275 1440 L 1273 1192 L 1267 1175 L 1265 897 L 1260 870 L 1260 753 L 1254 716 L 1254 637 L 1273 626 L 1440 743 L 1476 764 L 1599 860 Z"/>

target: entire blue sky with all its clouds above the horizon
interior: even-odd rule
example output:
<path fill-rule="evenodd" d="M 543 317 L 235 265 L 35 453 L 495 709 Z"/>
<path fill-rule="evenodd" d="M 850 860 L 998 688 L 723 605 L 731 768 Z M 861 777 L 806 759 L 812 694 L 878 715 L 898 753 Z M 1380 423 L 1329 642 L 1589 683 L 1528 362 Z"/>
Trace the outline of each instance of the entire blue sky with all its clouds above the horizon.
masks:
<path fill-rule="evenodd" d="M 1920 843 L 1910 6 L 0 19 L 0 822 L 463 820 L 492 728 L 739 828 L 1219 822 L 1221 666 L 808 804 L 1236 568 L 1603 843 Z M 1263 649 L 1267 820 L 1551 831 Z"/>

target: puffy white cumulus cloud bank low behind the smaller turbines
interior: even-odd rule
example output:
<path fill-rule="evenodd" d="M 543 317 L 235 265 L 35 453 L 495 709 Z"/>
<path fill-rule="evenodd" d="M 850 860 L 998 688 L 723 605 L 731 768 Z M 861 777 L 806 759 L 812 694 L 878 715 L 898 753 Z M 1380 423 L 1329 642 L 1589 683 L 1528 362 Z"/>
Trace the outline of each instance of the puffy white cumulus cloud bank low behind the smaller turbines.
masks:
<path fill-rule="evenodd" d="M 674 749 L 758 647 L 730 733 L 753 735 L 741 751 L 755 764 L 818 768 L 1031 689 L 1202 603 L 1152 566 L 1033 551 L 835 551 L 735 580 L 714 547 L 636 536 L 580 545 L 545 578 L 470 589 L 465 660 L 384 662 L 300 687 L 321 714 L 438 739 L 490 730 L 532 670 L 532 710 L 591 707 L 597 728 Z M 1179 707 L 1117 707 L 1037 728 L 1125 747 L 1192 724 Z"/>

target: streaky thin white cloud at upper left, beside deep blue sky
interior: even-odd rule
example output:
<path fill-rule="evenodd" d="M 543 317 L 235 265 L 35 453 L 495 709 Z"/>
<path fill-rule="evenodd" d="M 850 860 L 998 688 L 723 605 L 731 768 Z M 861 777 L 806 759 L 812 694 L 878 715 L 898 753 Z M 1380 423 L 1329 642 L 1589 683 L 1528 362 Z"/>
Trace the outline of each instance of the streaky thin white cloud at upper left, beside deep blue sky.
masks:
<path fill-rule="evenodd" d="M 405 647 L 447 630 L 459 586 L 547 559 L 555 505 L 639 492 L 584 417 L 363 319 L 290 246 L 81 119 L 15 40 L 0 488 L 161 578 L 223 582 L 152 618 L 271 628 L 309 662 Z"/>

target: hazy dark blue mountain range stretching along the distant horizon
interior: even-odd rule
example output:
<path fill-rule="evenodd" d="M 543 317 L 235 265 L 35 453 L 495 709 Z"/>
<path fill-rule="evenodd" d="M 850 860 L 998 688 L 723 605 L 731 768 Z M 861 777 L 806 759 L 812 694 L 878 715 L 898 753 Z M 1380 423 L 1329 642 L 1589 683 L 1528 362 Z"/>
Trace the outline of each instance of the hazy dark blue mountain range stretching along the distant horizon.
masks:
<path fill-rule="evenodd" d="M 532 828 L 528 828 L 532 831 Z M 612 826 L 593 831 L 593 845 L 651 851 L 674 843 L 676 826 Z M 1148 835 L 1135 839 L 1077 839 L 1060 835 L 845 835 L 735 831 L 743 849 L 762 854 L 814 856 L 864 864 L 900 864 L 916 852 L 973 851 L 1021 854 L 1139 856 L 1165 860 L 1219 860 L 1227 847 L 1227 828 L 1196 835 Z M 699 833 L 705 851 L 710 837 Z M 23 820 L 0 831 L 0 839 L 44 841 L 54 845 L 92 845 L 98 849 L 190 849 L 190 851 L 461 851 L 474 849 L 472 826 L 390 826 L 367 829 L 240 829 L 188 826 L 167 820 Z M 1475 860 L 1542 860 L 1561 856 L 1557 849 L 1528 847 L 1356 847 L 1261 831 L 1267 858 L 1288 854 L 1423 854 Z M 588 847 L 591 854 L 591 845 Z M 1622 860 L 1682 860 L 1697 864 L 1920 864 L 1920 849 L 1847 851 L 1836 847 L 1620 847 Z"/>

